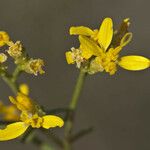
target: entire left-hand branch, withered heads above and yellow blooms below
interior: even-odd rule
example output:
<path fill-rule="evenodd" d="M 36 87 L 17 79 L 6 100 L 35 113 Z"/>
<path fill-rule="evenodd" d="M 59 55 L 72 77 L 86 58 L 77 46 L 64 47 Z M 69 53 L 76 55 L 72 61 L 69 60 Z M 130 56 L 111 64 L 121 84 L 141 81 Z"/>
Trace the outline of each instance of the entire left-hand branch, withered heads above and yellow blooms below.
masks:
<path fill-rule="evenodd" d="M 29 127 L 32 128 L 54 128 L 62 127 L 64 121 L 55 115 L 46 114 L 40 106 L 29 97 L 29 88 L 26 84 L 20 86 L 16 82 L 20 73 L 43 74 L 44 61 L 42 59 L 30 58 L 20 41 L 13 42 L 9 35 L 0 32 L 0 47 L 7 48 L 4 53 L 0 53 L 0 76 L 10 85 L 16 97 L 10 96 L 11 105 L 4 105 L 0 102 L 0 115 L 3 121 L 14 122 L 5 128 L 0 129 L 0 141 L 11 140 L 22 135 Z M 11 74 L 8 66 L 4 64 L 7 58 L 14 60 L 16 68 Z"/>

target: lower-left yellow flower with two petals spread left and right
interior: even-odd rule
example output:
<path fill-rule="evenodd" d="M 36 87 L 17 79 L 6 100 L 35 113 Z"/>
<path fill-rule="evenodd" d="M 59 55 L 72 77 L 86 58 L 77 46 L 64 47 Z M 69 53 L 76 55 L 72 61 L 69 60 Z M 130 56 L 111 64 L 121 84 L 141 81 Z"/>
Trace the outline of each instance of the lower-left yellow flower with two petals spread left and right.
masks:
<path fill-rule="evenodd" d="M 21 111 L 20 120 L 0 129 L 0 141 L 19 137 L 29 126 L 49 129 L 64 125 L 64 121 L 58 116 L 41 114 L 37 105 L 27 95 L 18 93 L 16 99 L 10 97 L 10 101 Z"/>

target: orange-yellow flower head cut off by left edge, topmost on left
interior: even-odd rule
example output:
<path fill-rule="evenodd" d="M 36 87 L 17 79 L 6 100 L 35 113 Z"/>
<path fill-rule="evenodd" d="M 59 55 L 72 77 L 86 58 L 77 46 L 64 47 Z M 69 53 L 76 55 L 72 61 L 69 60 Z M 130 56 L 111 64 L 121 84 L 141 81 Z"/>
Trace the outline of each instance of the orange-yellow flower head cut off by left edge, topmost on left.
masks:
<path fill-rule="evenodd" d="M 0 31 L 0 47 L 9 42 L 9 35 L 5 31 Z"/>

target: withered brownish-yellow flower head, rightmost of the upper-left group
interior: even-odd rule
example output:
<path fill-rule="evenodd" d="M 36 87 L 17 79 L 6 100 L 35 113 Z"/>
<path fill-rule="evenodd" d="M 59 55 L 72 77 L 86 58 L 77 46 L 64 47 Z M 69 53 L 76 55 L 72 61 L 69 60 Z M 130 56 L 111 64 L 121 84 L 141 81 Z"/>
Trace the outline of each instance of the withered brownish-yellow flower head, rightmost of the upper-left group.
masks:
<path fill-rule="evenodd" d="M 43 74 L 45 71 L 43 70 L 44 61 L 42 59 L 30 59 L 24 67 L 24 70 L 27 73 L 38 75 L 38 73 Z"/>

